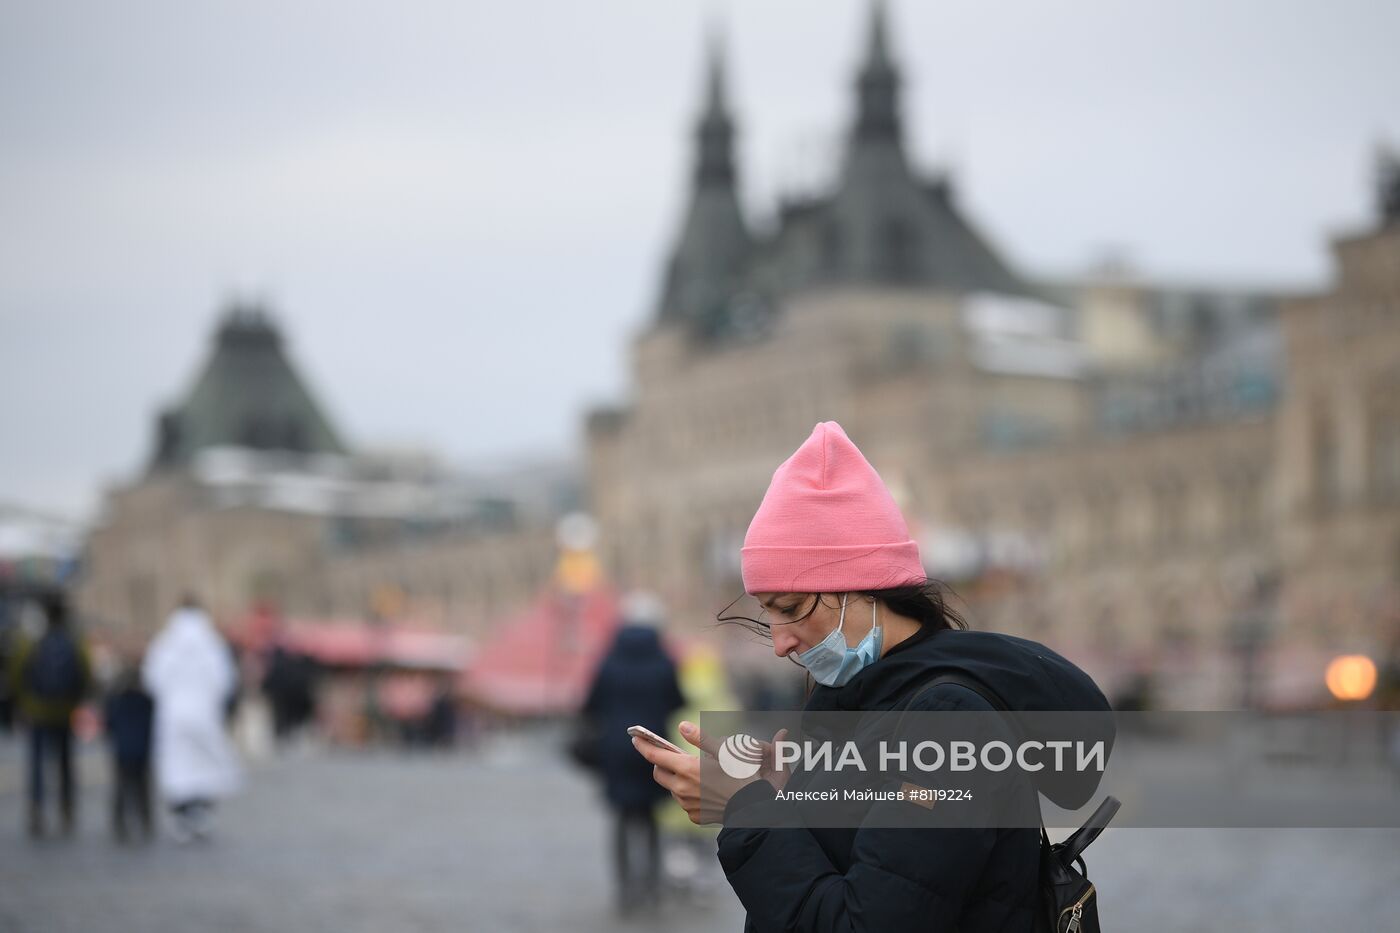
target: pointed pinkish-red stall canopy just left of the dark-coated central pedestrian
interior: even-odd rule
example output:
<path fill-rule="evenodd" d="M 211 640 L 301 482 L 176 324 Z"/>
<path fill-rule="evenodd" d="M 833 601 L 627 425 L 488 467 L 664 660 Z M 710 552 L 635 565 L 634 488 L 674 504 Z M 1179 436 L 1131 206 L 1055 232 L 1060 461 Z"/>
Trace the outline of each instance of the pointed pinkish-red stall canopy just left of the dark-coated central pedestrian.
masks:
<path fill-rule="evenodd" d="M 617 595 L 606 586 L 543 593 L 505 621 L 462 674 L 462 692 L 519 716 L 571 713 L 617 628 Z"/>

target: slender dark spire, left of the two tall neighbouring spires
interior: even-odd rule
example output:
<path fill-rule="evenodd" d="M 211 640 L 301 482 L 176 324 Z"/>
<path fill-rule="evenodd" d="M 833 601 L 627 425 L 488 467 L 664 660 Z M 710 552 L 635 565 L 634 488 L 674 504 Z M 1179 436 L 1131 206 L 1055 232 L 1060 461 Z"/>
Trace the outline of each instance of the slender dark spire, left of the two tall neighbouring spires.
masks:
<path fill-rule="evenodd" d="M 657 318 L 704 325 L 722 315 L 749 263 L 752 235 L 739 209 L 734 120 L 718 35 L 708 43 L 704 106 L 696 123 L 696 167 L 680 235 L 666 266 Z"/>

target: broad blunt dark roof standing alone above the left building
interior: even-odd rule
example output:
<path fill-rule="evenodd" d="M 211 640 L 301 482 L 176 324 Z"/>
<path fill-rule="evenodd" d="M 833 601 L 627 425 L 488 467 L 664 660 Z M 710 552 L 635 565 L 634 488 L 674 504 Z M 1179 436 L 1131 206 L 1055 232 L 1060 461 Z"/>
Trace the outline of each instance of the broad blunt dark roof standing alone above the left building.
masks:
<path fill-rule="evenodd" d="M 207 447 L 343 454 L 344 445 L 256 305 L 234 304 L 185 399 L 157 424 L 151 469 L 189 465 Z"/>

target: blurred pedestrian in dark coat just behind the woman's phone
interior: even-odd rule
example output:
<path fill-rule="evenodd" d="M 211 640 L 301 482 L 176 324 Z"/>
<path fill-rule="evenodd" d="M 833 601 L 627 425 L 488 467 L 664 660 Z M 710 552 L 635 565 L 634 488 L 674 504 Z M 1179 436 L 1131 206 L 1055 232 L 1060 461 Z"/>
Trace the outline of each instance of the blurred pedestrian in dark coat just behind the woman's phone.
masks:
<path fill-rule="evenodd" d="M 685 705 L 675 661 L 662 650 L 659 602 L 629 595 L 623 625 L 598 665 L 582 714 L 598 728 L 603 794 L 615 814 L 613 864 L 617 911 L 654 909 L 659 902 L 661 839 L 655 806 L 666 790 L 633 749 L 629 726 L 665 735 L 666 720 Z"/>

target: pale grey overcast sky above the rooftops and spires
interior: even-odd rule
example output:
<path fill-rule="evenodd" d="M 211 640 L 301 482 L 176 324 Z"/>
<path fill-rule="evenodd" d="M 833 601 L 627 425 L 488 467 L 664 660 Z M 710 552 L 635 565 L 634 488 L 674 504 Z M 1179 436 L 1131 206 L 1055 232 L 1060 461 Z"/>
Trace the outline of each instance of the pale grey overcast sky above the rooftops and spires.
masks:
<path fill-rule="evenodd" d="M 351 443 L 577 445 L 627 391 L 708 21 L 742 188 L 830 174 L 862 0 L 0 0 L 0 502 L 83 516 L 231 294 Z M 1317 286 L 1400 143 L 1400 4 L 892 4 L 910 148 L 1019 268 Z M 799 440 L 799 438 L 798 438 Z"/>

